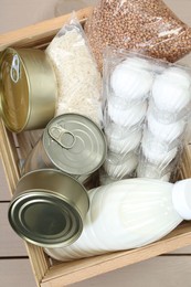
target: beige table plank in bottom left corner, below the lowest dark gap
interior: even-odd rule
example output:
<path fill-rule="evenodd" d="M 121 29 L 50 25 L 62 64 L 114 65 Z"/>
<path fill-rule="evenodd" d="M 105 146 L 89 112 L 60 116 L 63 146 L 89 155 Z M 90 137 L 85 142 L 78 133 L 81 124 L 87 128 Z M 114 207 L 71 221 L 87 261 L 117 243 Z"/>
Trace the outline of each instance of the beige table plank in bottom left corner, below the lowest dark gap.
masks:
<path fill-rule="evenodd" d="M 0 286 L 35 287 L 29 259 L 0 259 Z"/>

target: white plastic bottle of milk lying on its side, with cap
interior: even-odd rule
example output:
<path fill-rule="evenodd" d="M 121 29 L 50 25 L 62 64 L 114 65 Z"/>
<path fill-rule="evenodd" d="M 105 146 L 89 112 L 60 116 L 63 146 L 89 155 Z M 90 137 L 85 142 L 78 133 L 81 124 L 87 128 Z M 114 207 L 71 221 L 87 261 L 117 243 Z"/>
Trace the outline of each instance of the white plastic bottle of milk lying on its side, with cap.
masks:
<path fill-rule="evenodd" d="M 64 248 L 46 248 L 59 261 L 131 249 L 160 240 L 191 220 L 191 179 L 174 184 L 127 179 L 88 192 L 91 206 L 81 237 Z"/>

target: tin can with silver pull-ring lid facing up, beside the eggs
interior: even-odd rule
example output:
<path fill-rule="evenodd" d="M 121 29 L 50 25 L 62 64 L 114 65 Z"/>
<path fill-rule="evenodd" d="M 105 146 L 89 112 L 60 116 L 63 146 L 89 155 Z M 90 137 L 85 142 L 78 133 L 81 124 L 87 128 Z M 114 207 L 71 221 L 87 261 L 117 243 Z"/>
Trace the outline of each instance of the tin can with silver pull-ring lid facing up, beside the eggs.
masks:
<path fill-rule="evenodd" d="M 47 124 L 22 173 L 56 168 L 84 183 L 103 164 L 106 151 L 105 136 L 93 120 L 78 114 L 60 115 Z"/>

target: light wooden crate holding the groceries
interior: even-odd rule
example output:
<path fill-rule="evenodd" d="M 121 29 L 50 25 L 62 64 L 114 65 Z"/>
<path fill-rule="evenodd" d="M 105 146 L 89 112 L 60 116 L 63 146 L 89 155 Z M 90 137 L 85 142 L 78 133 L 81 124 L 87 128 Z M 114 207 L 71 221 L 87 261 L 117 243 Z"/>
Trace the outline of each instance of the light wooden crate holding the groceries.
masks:
<path fill-rule="evenodd" d="M 82 23 L 91 11 L 92 8 L 77 11 L 77 17 Z M 7 46 L 43 49 L 70 17 L 70 14 L 63 15 L 0 35 L 0 51 L 3 51 Z M 35 131 L 25 131 L 15 136 L 8 131 L 0 120 L 0 149 L 12 193 L 20 178 L 20 160 L 26 157 L 36 140 L 34 134 Z M 189 177 L 191 177 L 191 147 L 188 144 L 180 161 L 178 178 Z M 183 222 L 168 236 L 145 247 L 71 263 L 52 261 L 43 252 L 43 248 L 25 243 L 36 285 L 41 287 L 63 287 L 188 245 L 191 245 L 191 224 L 189 222 Z"/>

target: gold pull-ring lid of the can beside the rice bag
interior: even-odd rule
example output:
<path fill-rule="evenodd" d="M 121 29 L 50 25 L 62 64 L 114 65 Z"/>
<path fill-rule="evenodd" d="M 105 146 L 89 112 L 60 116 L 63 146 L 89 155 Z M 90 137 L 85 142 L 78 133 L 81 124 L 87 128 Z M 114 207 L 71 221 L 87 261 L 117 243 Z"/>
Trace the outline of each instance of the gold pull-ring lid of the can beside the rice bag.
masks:
<path fill-rule="evenodd" d="M 1 56 L 0 86 L 4 125 L 20 131 L 29 117 L 29 83 L 22 61 L 13 49 L 7 49 Z"/>

